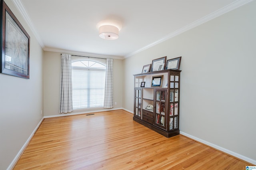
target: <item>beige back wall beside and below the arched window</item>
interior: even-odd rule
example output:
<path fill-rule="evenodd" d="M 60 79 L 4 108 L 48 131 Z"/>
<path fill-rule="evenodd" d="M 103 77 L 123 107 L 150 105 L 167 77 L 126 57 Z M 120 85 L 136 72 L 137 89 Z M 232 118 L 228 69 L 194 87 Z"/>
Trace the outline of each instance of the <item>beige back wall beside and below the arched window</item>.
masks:
<path fill-rule="evenodd" d="M 61 55 L 58 52 L 44 51 L 44 116 L 60 115 L 60 67 Z M 122 60 L 114 59 L 114 109 L 122 108 Z M 86 113 L 92 111 L 103 111 L 106 109 L 86 109 L 74 111 L 75 113 Z M 70 114 L 70 113 L 68 113 Z"/>

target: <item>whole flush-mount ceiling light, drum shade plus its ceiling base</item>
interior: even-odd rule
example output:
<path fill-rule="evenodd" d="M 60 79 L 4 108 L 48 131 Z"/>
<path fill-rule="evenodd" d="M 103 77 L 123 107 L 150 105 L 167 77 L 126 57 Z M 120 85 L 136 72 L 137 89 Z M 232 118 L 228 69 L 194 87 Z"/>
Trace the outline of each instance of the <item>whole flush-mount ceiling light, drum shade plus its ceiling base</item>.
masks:
<path fill-rule="evenodd" d="M 122 28 L 122 24 L 116 20 L 104 20 L 97 24 L 100 38 L 105 40 L 118 39 L 119 31 Z"/>

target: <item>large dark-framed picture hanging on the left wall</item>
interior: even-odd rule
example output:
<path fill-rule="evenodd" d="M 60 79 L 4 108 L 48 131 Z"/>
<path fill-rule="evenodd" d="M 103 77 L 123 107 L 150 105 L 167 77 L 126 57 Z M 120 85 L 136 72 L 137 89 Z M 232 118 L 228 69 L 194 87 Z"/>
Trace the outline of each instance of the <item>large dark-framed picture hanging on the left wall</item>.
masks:
<path fill-rule="evenodd" d="M 3 0 L 0 6 L 2 12 L 0 73 L 29 79 L 30 36 Z"/>

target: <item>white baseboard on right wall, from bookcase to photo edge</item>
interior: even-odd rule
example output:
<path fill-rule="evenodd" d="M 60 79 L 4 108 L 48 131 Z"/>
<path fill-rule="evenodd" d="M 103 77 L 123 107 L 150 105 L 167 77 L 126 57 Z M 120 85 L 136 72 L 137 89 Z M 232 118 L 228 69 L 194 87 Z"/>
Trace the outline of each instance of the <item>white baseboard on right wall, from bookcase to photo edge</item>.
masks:
<path fill-rule="evenodd" d="M 232 155 L 232 156 L 234 156 L 234 157 L 236 157 L 236 158 L 245 160 L 246 162 L 249 162 L 249 163 L 252 163 L 252 164 L 256 165 L 256 160 L 253 160 L 253 159 L 251 159 L 251 158 L 248 158 L 248 157 L 246 157 L 246 156 L 243 156 L 243 155 L 241 155 L 241 154 L 238 154 L 238 153 L 233 152 L 233 151 L 231 151 L 231 150 L 228 150 L 228 149 L 226 149 L 226 148 L 222 148 L 222 147 L 220 147 L 220 146 L 218 146 L 218 145 L 216 145 L 216 144 L 212 144 L 212 143 L 210 143 L 210 142 L 207 142 L 207 141 L 205 141 L 205 140 L 202 140 L 202 139 L 200 139 L 200 138 L 197 138 L 197 137 L 192 136 L 192 135 L 190 135 L 190 134 L 187 134 L 187 133 L 185 133 L 185 132 L 180 131 L 180 134 L 182 134 L 182 135 L 184 135 L 184 136 L 187 136 L 188 138 L 192 138 L 192 139 L 194 139 L 194 140 L 196 140 L 196 141 L 198 141 L 198 142 L 201 142 L 201 143 L 203 143 L 203 144 L 206 144 L 206 145 L 208 145 L 208 146 L 211 146 L 212 148 L 218 149 L 218 150 L 220 150 L 220 151 L 222 151 L 222 152 L 225 152 L 225 153 L 227 153 L 227 154 L 230 154 L 230 155 Z"/>

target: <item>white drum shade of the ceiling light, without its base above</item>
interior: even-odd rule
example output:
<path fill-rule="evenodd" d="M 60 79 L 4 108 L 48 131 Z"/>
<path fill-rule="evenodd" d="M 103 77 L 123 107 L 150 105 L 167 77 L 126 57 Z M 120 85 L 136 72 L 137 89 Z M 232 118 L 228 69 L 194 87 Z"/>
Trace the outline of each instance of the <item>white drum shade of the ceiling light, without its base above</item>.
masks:
<path fill-rule="evenodd" d="M 119 29 L 115 26 L 104 25 L 104 26 L 100 26 L 99 28 L 100 38 L 103 38 L 106 40 L 118 39 L 119 37 L 118 33 L 119 33 Z"/>

